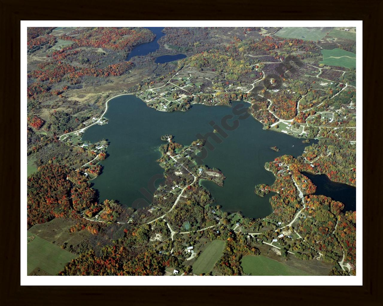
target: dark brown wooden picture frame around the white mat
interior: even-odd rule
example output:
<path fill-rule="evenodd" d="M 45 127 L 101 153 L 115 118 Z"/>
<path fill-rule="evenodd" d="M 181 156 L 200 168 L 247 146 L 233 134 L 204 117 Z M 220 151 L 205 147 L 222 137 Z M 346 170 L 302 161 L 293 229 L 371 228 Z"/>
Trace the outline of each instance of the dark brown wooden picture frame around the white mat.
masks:
<path fill-rule="evenodd" d="M 382 305 L 381 142 L 383 2 L 0 1 L 2 305 L 93 303 Z M 363 20 L 363 286 L 20 286 L 20 20 Z M 196 23 L 198 26 L 198 23 Z M 373 120 L 373 119 L 376 120 Z M 358 241 L 358 243 L 361 243 Z M 235 280 L 235 279 L 234 279 Z M 86 280 L 84 280 L 86 282 Z M 159 278 L 158 282 L 162 282 Z M 214 278 L 212 278 L 214 282 Z M 341 282 L 341 278 L 339 279 Z M 86 285 L 86 283 L 84 283 Z M 341 285 L 341 283 L 339 284 Z M 277 297 L 276 302 L 273 297 Z"/>

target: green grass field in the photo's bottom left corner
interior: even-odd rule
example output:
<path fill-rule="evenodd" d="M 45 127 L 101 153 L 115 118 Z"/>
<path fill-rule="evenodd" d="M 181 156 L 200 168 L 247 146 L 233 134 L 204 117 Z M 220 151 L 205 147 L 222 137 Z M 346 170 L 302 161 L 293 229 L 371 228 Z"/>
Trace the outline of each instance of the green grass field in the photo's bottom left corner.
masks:
<path fill-rule="evenodd" d="M 32 241 L 30 238 L 31 236 L 34 236 Z M 75 254 L 64 251 L 61 247 L 49 243 L 36 234 L 28 232 L 28 275 L 36 268 L 43 269 L 51 275 L 57 275 L 62 270 L 64 265 L 75 257 Z"/>

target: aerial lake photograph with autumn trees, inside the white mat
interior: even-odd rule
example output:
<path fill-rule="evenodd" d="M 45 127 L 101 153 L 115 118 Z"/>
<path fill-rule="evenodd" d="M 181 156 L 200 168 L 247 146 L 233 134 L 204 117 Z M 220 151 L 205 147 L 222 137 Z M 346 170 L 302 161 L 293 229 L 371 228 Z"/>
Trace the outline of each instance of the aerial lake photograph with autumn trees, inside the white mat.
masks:
<path fill-rule="evenodd" d="M 357 275 L 344 23 L 28 26 L 26 276 Z"/>

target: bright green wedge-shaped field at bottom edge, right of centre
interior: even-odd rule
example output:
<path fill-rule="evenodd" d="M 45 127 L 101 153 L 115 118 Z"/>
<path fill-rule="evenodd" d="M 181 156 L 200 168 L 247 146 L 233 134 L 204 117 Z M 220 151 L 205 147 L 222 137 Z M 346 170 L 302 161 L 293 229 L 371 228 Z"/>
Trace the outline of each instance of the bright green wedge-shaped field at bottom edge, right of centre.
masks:
<path fill-rule="evenodd" d="M 244 256 L 241 260 L 241 266 L 245 275 L 310 275 L 264 256 Z"/>

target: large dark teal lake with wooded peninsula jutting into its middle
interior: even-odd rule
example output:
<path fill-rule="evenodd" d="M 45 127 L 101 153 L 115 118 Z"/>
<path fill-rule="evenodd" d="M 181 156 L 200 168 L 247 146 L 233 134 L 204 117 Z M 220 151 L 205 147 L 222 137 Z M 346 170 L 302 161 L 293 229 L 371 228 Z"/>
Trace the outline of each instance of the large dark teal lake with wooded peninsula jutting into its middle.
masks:
<path fill-rule="evenodd" d="M 105 115 L 109 123 L 93 125 L 82 137 L 90 142 L 103 138 L 110 141 L 110 156 L 102 161 L 103 173 L 92 181 L 93 188 L 99 191 L 99 200 L 115 199 L 132 206 L 134 200 L 144 198 L 139 189 L 147 188 L 153 175 L 164 173 L 156 161 L 161 156 L 158 148 L 164 143 L 161 135 L 172 134 L 175 142 L 189 145 L 196 140 L 197 133 L 204 135 L 213 130 L 209 125 L 211 120 L 220 125 L 221 119 L 231 114 L 229 106 L 195 104 L 186 112 L 168 113 L 147 107 L 133 95 L 112 99 Z M 208 150 L 204 159 L 209 167 L 223 171 L 224 186 L 210 181 L 202 184 L 213 195 L 214 205 L 222 205 L 229 212 L 241 211 L 248 217 L 263 218 L 272 212 L 268 202 L 272 193 L 259 197 L 254 194 L 254 186 L 271 185 L 275 179 L 265 170 L 265 162 L 284 154 L 301 155 L 306 144 L 301 139 L 262 129 L 262 124 L 251 116 L 239 122 L 236 130 L 226 131 L 229 136 L 222 143 L 211 141 L 215 149 Z M 270 146 L 277 146 L 280 151 L 275 152 Z"/>

